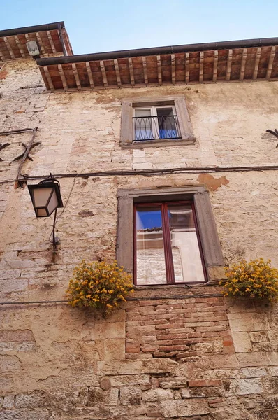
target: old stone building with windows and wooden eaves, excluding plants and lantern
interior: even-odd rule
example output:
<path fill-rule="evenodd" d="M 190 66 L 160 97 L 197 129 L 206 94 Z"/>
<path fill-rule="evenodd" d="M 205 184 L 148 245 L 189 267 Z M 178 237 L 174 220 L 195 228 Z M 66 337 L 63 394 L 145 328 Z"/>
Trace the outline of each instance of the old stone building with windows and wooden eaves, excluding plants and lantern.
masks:
<path fill-rule="evenodd" d="M 278 267 L 277 45 L 76 56 L 64 22 L 0 31 L 0 419 L 278 419 L 277 305 L 218 284 Z M 50 173 L 56 253 L 26 188 Z M 115 258 L 128 302 L 68 307 L 73 268 Z"/>

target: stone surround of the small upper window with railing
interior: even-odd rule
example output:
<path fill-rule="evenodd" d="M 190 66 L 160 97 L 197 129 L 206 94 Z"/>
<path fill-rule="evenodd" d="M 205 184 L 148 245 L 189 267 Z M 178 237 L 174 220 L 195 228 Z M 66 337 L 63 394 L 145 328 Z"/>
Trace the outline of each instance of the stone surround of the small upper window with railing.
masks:
<path fill-rule="evenodd" d="M 133 141 L 133 109 L 138 106 L 175 106 L 177 121 L 182 139 L 154 139 Z M 184 146 L 194 144 L 196 137 L 187 111 L 184 95 L 162 97 L 133 97 L 122 100 L 121 134 L 119 144 L 122 148 L 145 148 L 161 146 Z"/>

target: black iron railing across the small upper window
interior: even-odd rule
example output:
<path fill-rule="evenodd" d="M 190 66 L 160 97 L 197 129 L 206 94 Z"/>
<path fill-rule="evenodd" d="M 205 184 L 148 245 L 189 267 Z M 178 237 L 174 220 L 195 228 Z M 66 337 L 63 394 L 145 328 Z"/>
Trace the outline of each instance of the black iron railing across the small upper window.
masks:
<path fill-rule="evenodd" d="M 177 116 L 133 117 L 134 141 L 182 139 Z"/>

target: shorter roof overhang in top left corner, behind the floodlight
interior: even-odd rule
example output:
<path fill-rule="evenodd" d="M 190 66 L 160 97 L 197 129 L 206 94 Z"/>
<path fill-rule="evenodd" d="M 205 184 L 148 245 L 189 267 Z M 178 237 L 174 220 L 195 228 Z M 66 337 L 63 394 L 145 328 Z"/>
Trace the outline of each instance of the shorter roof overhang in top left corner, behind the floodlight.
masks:
<path fill-rule="evenodd" d="M 0 62 L 30 57 L 28 41 L 36 41 L 42 55 L 73 55 L 64 22 L 54 22 L 0 31 Z"/>

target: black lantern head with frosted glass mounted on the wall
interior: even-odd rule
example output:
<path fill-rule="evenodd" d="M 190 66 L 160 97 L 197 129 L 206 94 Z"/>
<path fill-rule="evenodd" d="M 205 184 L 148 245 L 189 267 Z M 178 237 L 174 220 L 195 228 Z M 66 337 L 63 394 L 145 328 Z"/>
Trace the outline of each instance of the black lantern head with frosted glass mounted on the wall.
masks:
<path fill-rule="evenodd" d="M 28 186 L 37 217 L 49 217 L 57 207 L 63 207 L 59 186 L 54 182 Z"/>

